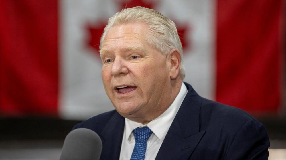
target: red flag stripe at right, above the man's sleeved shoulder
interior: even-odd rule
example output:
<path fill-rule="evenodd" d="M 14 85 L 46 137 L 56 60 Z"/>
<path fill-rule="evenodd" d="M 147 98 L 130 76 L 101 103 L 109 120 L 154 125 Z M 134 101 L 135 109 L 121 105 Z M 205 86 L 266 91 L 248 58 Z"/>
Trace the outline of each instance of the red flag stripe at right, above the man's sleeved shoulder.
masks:
<path fill-rule="evenodd" d="M 281 106 L 282 0 L 218 0 L 216 100 L 248 112 Z"/>

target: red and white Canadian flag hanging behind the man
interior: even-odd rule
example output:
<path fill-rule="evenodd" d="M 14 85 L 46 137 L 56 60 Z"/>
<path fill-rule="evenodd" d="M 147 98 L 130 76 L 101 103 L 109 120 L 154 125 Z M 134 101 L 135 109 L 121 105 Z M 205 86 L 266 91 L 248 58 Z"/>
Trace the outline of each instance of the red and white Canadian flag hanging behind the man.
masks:
<path fill-rule="evenodd" d="M 113 14 L 144 6 L 172 19 L 185 82 L 253 114 L 282 105 L 283 0 L 3 0 L 0 116 L 85 119 L 112 110 L 99 39 Z"/>

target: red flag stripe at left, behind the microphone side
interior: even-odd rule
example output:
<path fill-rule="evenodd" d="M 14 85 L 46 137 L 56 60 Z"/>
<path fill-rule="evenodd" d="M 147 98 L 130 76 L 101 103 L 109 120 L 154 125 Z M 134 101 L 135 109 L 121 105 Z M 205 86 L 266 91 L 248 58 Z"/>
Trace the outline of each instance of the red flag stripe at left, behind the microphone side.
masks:
<path fill-rule="evenodd" d="M 58 2 L 0 4 L 0 112 L 56 115 Z"/>

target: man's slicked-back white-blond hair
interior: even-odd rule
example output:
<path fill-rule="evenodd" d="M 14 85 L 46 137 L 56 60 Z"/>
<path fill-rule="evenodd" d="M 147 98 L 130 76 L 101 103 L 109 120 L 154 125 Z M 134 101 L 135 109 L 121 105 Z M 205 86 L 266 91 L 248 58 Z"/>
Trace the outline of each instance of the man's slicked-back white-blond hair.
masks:
<path fill-rule="evenodd" d="M 159 50 L 162 54 L 170 54 L 172 49 L 177 48 L 181 54 L 180 75 L 185 77 L 183 64 L 183 48 L 176 25 L 173 21 L 155 11 L 145 7 L 125 8 L 109 18 L 100 39 L 101 50 L 107 31 L 114 25 L 132 22 L 143 22 L 148 26 L 147 42 Z"/>

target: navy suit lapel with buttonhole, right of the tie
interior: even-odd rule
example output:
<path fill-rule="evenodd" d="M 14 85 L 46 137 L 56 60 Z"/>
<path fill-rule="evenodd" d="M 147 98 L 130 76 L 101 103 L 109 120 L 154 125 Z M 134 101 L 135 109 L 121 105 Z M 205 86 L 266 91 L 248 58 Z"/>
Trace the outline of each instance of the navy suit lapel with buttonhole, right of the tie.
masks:
<path fill-rule="evenodd" d="M 188 159 L 205 131 L 200 131 L 201 100 L 190 84 L 188 93 L 173 120 L 155 160 Z"/>

